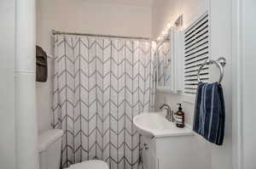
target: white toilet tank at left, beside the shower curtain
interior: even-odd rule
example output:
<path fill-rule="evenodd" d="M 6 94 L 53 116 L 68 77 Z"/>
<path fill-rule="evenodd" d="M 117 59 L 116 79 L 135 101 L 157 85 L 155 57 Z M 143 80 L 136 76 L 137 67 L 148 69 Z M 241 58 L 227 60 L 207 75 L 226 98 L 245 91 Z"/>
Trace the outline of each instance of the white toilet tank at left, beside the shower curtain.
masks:
<path fill-rule="evenodd" d="M 39 169 L 59 169 L 63 131 L 51 129 L 38 136 Z"/>

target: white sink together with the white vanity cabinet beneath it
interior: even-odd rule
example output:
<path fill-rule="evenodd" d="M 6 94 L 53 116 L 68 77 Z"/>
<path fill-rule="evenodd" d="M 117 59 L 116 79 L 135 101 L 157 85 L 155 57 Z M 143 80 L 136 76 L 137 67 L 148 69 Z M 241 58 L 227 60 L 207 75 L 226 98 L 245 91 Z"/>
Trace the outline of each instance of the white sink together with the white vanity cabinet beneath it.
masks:
<path fill-rule="evenodd" d="M 166 112 L 147 112 L 133 118 L 137 131 L 142 134 L 143 168 L 197 168 L 192 130 L 176 127 L 165 115 Z"/>

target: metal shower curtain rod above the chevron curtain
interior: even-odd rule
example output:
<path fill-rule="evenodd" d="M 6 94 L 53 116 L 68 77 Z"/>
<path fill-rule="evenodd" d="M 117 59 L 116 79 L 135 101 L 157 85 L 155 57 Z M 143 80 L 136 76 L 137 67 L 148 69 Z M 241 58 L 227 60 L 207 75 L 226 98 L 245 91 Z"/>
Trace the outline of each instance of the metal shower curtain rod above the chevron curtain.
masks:
<path fill-rule="evenodd" d="M 67 31 L 55 31 L 52 30 L 53 35 L 62 34 L 62 35 L 79 35 L 79 36 L 91 36 L 91 37 L 114 37 L 114 38 L 125 38 L 125 39 L 138 39 L 138 40 L 147 40 L 154 41 L 149 37 L 128 37 L 128 36 L 115 36 L 115 35 L 102 35 L 102 34 L 90 34 L 90 33 L 77 33 L 77 32 L 67 32 Z"/>

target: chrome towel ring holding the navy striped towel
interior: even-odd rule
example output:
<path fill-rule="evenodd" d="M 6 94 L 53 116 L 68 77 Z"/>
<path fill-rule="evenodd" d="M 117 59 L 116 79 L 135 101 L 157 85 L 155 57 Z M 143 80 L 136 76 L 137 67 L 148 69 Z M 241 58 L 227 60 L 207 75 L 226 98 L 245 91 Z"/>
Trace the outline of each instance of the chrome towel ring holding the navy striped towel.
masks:
<path fill-rule="evenodd" d="M 200 79 L 200 72 L 201 72 L 201 69 L 205 66 L 205 65 L 212 65 L 212 64 L 215 64 L 218 66 L 218 69 L 220 71 L 220 76 L 219 76 L 219 79 L 218 79 L 218 84 L 220 84 L 222 82 L 222 79 L 224 77 L 224 66 L 226 65 L 226 59 L 224 59 L 223 57 L 219 58 L 218 60 L 206 60 L 205 63 L 203 63 L 200 67 L 199 67 L 199 70 L 197 72 L 197 81 L 198 82 L 201 82 L 201 79 Z"/>

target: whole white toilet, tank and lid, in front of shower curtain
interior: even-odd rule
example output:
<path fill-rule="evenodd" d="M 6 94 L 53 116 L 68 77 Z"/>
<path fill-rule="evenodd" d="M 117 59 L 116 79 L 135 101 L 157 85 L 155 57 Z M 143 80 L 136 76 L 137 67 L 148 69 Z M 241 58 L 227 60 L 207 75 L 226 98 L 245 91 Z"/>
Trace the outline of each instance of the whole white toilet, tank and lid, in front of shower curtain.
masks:
<path fill-rule="evenodd" d="M 63 131 L 51 129 L 38 136 L 39 169 L 59 169 L 61 165 L 61 138 Z M 104 161 L 83 161 L 68 169 L 109 169 Z"/>

